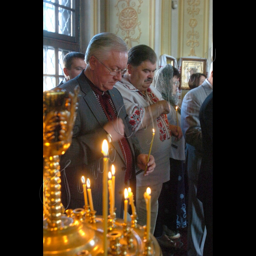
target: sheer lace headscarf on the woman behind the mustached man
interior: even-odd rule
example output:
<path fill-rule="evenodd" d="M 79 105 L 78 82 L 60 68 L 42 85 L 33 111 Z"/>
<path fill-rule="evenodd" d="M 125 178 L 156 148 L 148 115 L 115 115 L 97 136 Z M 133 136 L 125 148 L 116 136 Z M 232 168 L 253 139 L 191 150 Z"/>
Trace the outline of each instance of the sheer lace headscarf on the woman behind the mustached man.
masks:
<path fill-rule="evenodd" d="M 166 64 L 155 73 L 152 85 L 162 94 L 163 99 L 176 108 L 177 93 L 173 95 L 173 66 Z M 180 110 L 180 109 L 179 109 Z"/>

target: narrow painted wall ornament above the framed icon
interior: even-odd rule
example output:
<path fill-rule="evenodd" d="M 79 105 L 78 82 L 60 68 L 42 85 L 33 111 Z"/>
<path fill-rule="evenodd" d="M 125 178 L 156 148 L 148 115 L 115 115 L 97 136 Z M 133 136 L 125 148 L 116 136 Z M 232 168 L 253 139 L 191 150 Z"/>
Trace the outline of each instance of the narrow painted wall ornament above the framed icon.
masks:
<path fill-rule="evenodd" d="M 187 37 L 191 38 L 187 41 L 187 46 L 191 46 L 190 53 L 188 55 L 196 56 L 195 46 L 199 46 L 199 41 L 194 38 L 199 38 L 199 33 L 198 31 L 194 30 L 194 27 L 197 25 L 197 20 L 194 18 L 194 16 L 199 14 L 200 9 L 195 8 L 195 6 L 200 4 L 200 0 L 188 0 L 188 4 L 192 6 L 192 9 L 191 7 L 188 7 L 188 14 L 191 14 L 193 17 L 189 20 L 189 26 L 192 27 L 192 31 L 188 31 L 187 33 Z"/>

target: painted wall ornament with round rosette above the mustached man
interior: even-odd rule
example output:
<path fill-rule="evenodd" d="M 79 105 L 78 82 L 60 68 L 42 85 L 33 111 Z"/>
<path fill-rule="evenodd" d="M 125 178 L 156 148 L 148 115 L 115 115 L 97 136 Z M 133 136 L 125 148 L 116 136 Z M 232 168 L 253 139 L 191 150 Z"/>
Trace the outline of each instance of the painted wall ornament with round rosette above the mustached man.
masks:
<path fill-rule="evenodd" d="M 116 34 L 119 30 L 121 30 L 121 35 L 123 35 L 123 40 L 127 44 L 129 48 L 132 48 L 132 41 L 140 42 L 140 21 L 138 14 L 141 12 L 139 9 L 141 4 L 143 3 L 142 0 L 138 0 L 139 5 L 137 11 L 135 10 L 135 2 L 131 2 L 131 0 L 117 0 L 116 5 L 114 7 L 117 8 L 117 16 L 118 17 L 118 24 L 116 25 L 117 30 Z M 120 2 L 126 2 L 121 4 L 121 11 L 118 8 L 118 4 Z M 134 8 L 133 8 L 134 7 Z"/>

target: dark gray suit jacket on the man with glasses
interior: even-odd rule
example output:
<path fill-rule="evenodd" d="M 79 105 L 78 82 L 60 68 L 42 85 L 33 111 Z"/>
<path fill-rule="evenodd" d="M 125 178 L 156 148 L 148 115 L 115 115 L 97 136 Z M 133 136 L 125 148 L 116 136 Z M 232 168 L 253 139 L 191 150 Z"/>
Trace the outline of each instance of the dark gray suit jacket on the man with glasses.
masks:
<path fill-rule="evenodd" d="M 84 198 L 82 183 L 78 185 L 79 179 L 84 176 L 89 177 L 91 181 L 91 190 L 93 196 L 94 210 L 97 215 L 102 215 L 102 142 L 107 139 L 106 132 L 103 129 L 108 120 L 95 97 L 93 90 L 87 83 L 84 72 L 76 78 L 69 80 L 67 83 L 59 86 L 60 89 L 74 92 L 75 87 L 80 86 L 80 97 L 78 102 L 78 111 L 73 128 L 72 143 L 66 153 L 61 156 L 61 170 L 65 163 L 70 160 L 70 164 L 61 171 L 61 199 L 65 208 L 83 208 Z M 133 163 L 136 163 L 137 156 L 141 153 L 139 142 L 133 135 L 131 126 L 128 123 L 123 97 L 115 88 L 109 91 L 110 97 L 117 110 L 118 117 L 123 119 L 125 125 L 125 135 L 132 151 Z M 120 112 L 119 112 L 120 110 Z M 110 149 L 112 148 L 112 150 Z M 124 177 L 125 177 L 125 159 L 118 142 L 109 144 L 109 157 L 113 161 L 116 170 L 116 187 L 115 187 L 115 207 L 116 217 L 123 218 L 123 195 L 124 195 Z M 112 163 L 109 163 L 111 171 Z M 135 165 L 132 170 L 130 187 L 135 194 L 136 192 L 136 175 Z M 64 179 L 67 184 L 64 184 Z M 67 189 L 68 188 L 68 189 Z M 70 202 L 68 191 L 70 191 Z M 136 201 L 135 201 L 136 202 Z"/>

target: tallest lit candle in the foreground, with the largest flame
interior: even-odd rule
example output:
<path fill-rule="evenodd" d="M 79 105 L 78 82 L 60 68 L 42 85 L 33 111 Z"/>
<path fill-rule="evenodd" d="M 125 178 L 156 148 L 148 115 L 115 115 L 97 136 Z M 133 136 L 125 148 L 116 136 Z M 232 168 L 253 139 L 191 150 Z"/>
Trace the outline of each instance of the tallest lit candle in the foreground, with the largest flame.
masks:
<path fill-rule="evenodd" d="M 103 189 L 102 189 L 102 212 L 103 212 L 103 251 L 104 256 L 108 255 L 108 151 L 109 146 L 107 140 L 103 140 L 102 143 L 102 154 L 104 156 L 103 161 L 105 163 L 105 168 L 103 170 Z"/>

